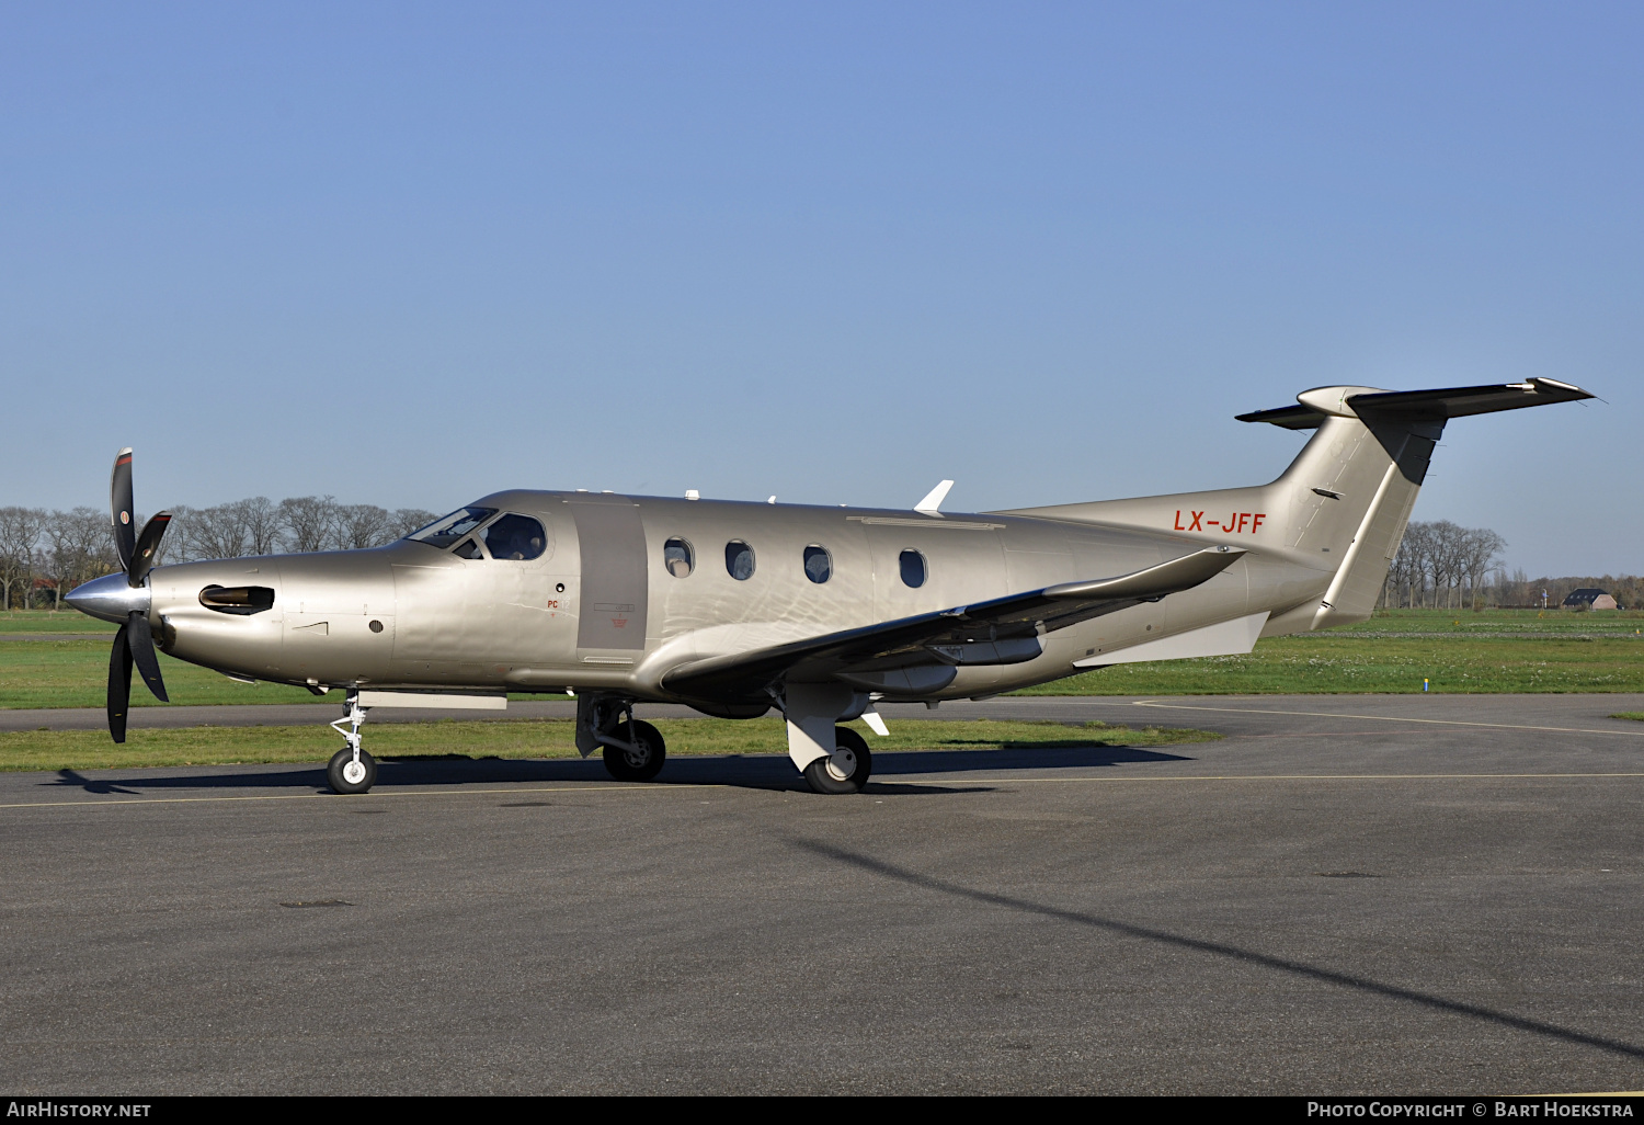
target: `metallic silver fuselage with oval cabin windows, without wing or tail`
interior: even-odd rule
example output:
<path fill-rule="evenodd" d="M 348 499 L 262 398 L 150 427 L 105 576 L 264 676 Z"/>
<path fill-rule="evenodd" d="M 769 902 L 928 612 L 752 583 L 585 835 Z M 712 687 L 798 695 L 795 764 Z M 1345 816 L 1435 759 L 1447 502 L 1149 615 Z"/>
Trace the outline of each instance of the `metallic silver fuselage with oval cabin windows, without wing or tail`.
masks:
<path fill-rule="evenodd" d="M 459 558 L 401 539 L 363 551 L 161 566 L 146 590 L 156 641 L 179 660 L 291 684 L 574 688 L 715 702 L 667 691 L 663 674 L 707 656 L 1128 574 L 1223 538 L 1011 515 L 577 492 L 498 492 L 475 507 L 541 520 L 541 558 Z M 694 556 L 684 577 L 664 564 L 669 539 L 686 541 Z M 727 544 L 751 548 L 750 577 L 732 576 Z M 824 582 L 804 569 L 806 548 L 817 546 L 830 556 Z M 903 577 L 904 551 L 924 559 L 917 587 Z M 1047 633 L 1032 660 L 957 668 L 940 686 L 891 684 L 886 694 L 954 699 L 1069 676 L 1080 671 L 1075 661 L 1092 666 L 1103 653 L 1315 600 L 1330 564 L 1274 543 L 1192 590 Z M 210 587 L 261 587 L 271 599 L 265 610 L 224 612 L 202 602 Z M 125 609 L 110 620 L 123 620 Z"/>

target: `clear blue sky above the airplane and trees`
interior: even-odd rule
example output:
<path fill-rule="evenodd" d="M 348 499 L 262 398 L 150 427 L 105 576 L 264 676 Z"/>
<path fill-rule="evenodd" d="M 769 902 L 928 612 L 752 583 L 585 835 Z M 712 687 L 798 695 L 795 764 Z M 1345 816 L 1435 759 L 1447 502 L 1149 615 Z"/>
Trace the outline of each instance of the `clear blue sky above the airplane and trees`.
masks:
<path fill-rule="evenodd" d="M 1637 5 L 0 3 L 0 503 L 1253 484 L 1644 569 Z"/>

